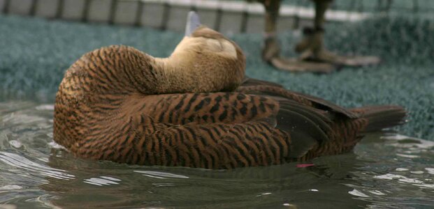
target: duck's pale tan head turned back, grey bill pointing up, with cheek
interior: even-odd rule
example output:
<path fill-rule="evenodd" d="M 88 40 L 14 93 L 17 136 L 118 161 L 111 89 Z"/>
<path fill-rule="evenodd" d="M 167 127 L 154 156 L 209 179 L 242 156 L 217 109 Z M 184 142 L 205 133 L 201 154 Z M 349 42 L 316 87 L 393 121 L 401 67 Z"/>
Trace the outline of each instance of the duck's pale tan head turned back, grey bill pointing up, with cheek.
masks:
<path fill-rule="evenodd" d="M 189 13 L 186 36 L 171 56 L 159 59 L 172 78 L 173 91 L 232 91 L 243 82 L 245 56 L 240 47 L 222 33 L 201 26 L 198 16 Z M 179 86 L 182 84 L 182 87 Z M 175 93 L 175 92 L 161 92 Z"/>

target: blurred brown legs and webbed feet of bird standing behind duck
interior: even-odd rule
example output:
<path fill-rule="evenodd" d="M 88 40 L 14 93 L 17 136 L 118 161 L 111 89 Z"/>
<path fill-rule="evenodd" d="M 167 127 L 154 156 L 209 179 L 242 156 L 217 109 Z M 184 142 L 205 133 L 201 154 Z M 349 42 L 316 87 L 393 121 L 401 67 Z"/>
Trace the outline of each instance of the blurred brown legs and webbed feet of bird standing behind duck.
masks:
<path fill-rule="evenodd" d="M 252 1 L 252 0 L 250 0 Z M 276 25 L 280 10 L 280 0 L 257 0 L 263 4 L 265 15 L 265 37 L 262 59 L 275 68 L 294 72 L 331 72 L 339 66 L 375 65 L 375 56 L 340 56 L 324 47 L 324 22 L 328 6 L 333 0 L 312 0 L 315 4 L 314 26 L 303 30 L 304 38 L 295 47 L 300 54 L 295 59 L 280 56 Z"/>

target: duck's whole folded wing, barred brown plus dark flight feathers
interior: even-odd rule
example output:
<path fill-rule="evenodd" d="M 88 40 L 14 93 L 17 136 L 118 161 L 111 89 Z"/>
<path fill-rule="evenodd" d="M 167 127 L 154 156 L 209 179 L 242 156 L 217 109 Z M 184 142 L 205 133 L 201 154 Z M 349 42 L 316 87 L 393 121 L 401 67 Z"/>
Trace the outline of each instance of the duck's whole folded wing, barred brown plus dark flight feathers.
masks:
<path fill-rule="evenodd" d="M 330 140 L 332 121 L 326 111 L 294 100 L 235 92 L 149 95 L 142 101 L 145 104 L 136 105 L 138 108 L 127 105 L 131 115 L 150 116 L 157 123 L 239 125 L 264 122 L 271 130 L 291 135 L 291 152 L 285 159 L 301 157 L 314 146 Z M 269 134 L 265 137 L 273 137 Z"/>

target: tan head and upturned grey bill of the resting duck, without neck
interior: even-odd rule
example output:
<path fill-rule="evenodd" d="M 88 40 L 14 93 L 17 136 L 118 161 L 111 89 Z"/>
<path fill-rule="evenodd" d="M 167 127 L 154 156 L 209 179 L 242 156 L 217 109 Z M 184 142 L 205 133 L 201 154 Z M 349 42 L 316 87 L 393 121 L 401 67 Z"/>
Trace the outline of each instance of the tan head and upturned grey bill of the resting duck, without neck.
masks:
<path fill-rule="evenodd" d="M 196 13 L 190 12 L 186 36 L 171 54 L 176 63 L 186 65 L 191 74 L 201 75 L 208 89 L 231 91 L 244 79 L 245 56 L 238 45 L 222 33 L 201 26 Z"/>

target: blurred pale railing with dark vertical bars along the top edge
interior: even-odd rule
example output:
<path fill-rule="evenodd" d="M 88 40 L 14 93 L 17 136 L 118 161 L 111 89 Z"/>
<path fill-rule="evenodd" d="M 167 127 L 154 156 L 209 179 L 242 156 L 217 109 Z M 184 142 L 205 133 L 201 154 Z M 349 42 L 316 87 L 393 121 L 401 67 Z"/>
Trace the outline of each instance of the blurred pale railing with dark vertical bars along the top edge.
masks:
<path fill-rule="evenodd" d="M 284 0 L 277 29 L 297 28 L 314 17 L 308 0 Z M 182 31 L 189 10 L 198 11 L 204 24 L 224 33 L 260 32 L 263 7 L 241 0 L 0 0 L 5 14 L 152 26 Z M 433 0 L 335 0 L 329 21 L 364 20 L 377 14 L 434 14 Z"/>

